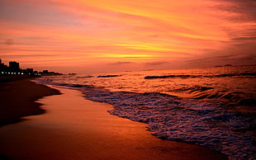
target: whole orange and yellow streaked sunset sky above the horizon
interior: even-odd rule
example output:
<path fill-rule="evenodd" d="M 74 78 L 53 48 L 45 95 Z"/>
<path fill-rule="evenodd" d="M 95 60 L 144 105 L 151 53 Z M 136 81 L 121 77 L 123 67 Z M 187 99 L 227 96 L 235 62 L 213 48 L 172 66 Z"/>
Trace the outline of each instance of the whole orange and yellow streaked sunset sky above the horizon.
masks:
<path fill-rule="evenodd" d="M 60 73 L 256 64 L 255 0 L 0 0 L 0 59 Z"/>

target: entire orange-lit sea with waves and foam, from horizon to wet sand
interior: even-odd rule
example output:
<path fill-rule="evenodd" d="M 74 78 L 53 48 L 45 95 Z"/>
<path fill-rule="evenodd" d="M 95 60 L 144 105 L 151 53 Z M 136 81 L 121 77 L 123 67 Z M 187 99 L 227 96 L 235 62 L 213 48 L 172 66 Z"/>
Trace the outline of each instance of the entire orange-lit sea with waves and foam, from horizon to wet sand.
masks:
<path fill-rule="evenodd" d="M 256 159 L 256 66 L 45 76 L 36 81 L 114 106 L 160 139 Z M 72 107 L 72 106 L 70 106 Z"/>

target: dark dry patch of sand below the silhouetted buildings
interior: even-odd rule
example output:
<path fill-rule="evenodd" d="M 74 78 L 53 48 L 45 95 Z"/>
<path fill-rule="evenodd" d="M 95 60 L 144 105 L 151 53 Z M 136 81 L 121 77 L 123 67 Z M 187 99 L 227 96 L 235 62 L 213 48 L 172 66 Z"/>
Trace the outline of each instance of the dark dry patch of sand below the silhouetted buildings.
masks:
<path fill-rule="evenodd" d="M 0 82 L 0 127 L 17 123 L 24 116 L 45 113 L 40 108 L 41 104 L 35 101 L 44 96 L 58 94 L 58 90 L 31 82 L 31 78 Z"/>

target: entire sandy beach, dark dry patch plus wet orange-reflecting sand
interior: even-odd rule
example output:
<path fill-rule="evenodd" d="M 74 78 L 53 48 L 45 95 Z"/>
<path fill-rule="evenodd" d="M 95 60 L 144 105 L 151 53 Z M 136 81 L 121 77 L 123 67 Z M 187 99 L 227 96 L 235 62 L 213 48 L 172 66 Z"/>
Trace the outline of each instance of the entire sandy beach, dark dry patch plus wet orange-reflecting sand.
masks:
<path fill-rule="evenodd" d="M 10 159 L 227 159 L 209 148 L 157 139 L 144 123 L 110 115 L 111 105 L 76 90 L 28 79 L 0 88 L 0 154 Z"/>

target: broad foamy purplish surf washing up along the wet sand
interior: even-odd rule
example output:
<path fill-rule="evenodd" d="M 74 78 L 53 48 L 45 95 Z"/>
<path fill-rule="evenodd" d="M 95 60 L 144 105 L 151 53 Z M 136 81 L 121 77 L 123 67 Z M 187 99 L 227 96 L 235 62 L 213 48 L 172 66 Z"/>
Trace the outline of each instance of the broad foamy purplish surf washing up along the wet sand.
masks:
<path fill-rule="evenodd" d="M 50 83 L 79 89 L 88 100 L 113 105 L 108 111 L 111 115 L 145 122 L 147 129 L 160 139 L 199 144 L 234 159 L 256 158 L 254 113 L 230 111 L 159 92 L 110 92 L 90 85 Z M 184 87 L 183 91 L 211 92 L 214 88 Z M 218 93 L 230 96 L 225 91 Z"/>

